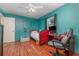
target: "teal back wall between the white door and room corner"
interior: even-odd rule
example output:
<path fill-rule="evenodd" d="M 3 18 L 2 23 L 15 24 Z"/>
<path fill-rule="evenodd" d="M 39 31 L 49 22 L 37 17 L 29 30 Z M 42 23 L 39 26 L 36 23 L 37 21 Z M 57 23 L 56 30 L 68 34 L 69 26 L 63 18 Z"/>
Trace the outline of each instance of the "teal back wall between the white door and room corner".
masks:
<path fill-rule="evenodd" d="M 37 19 L 14 15 L 11 13 L 4 13 L 2 10 L 0 10 L 0 12 L 5 17 L 15 18 L 15 40 L 16 41 L 19 41 L 21 36 L 29 37 L 29 32 L 31 30 L 38 30 Z"/>

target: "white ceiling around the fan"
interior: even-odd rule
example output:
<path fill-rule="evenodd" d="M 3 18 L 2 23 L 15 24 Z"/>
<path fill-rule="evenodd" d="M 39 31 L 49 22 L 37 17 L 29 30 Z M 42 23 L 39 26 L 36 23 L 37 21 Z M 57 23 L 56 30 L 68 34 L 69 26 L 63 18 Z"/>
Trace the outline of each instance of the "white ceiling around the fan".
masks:
<path fill-rule="evenodd" d="M 3 12 L 13 13 L 16 15 L 31 17 L 31 18 L 39 18 L 47 13 L 55 10 L 56 8 L 64 5 L 64 3 L 33 3 L 34 6 L 43 6 L 43 8 L 36 9 L 35 12 L 27 12 L 29 7 L 28 3 L 0 3 L 0 8 Z M 22 7 L 22 8 L 20 8 Z"/>

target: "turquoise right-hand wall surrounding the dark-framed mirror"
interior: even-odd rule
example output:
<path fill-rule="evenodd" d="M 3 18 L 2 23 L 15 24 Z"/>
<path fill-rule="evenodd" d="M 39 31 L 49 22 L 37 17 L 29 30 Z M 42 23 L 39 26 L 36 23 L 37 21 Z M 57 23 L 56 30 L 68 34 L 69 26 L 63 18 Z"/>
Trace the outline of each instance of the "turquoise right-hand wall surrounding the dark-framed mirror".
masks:
<path fill-rule="evenodd" d="M 40 30 L 45 29 L 45 20 L 54 14 L 57 14 L 56 25 L 58 34 L 64 33 L 69 28 L 73 28 L 74 50 L 76 53 L 79 53 L 79 4 L 66 4 L 49 14 L 40 17 Z"/>

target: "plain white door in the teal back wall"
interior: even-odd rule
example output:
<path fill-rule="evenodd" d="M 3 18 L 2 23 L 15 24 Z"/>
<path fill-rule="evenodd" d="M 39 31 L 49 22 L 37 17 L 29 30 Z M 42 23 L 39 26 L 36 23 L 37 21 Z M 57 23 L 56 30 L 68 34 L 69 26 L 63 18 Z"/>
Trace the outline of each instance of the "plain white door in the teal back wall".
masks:
<path fill-rule="evenodd" d="M 15 42 L 15 18 L 2 17 L 4 25 L 3 42 Z"/>

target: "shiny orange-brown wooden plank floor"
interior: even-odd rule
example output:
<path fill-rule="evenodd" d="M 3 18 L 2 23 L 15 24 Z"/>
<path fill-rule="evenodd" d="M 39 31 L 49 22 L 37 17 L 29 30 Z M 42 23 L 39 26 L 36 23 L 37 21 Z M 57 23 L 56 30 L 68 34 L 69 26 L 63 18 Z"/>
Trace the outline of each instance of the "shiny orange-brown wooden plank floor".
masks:
<path fill-rule="evenodd" d="M 37 45 L 34 41 L 22 43 L 5 43 L 3 46 L 4 56 L 51 56 L 49 51 L 55 49 L 48 45 Z"/>

